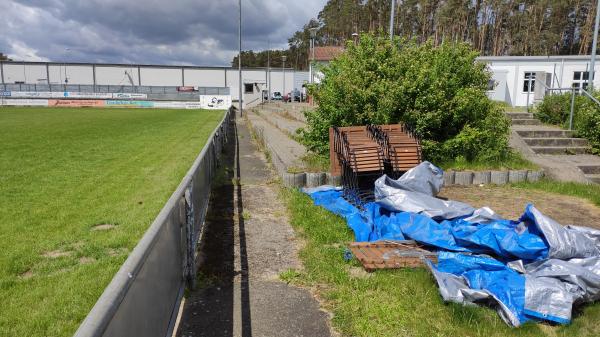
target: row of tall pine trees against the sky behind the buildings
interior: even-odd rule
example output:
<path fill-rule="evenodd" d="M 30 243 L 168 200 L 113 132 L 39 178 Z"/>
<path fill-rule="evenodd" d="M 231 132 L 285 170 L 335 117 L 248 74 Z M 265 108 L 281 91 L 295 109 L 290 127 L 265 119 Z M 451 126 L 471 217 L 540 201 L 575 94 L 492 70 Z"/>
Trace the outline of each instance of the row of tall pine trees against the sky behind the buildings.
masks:
<path fill-rule="evenodd" d="M 434 45 L 468 42 L 481 55 L 581 55 L 591 52 L 595 11 L 593 0 L 397 0 L 394 34 Z M 306 69 L 309 28 L 318 28 L 317 46 L 340 46 L 353 33 L 387 34 L 390 12 L 390 0 L 329 0 L 287 50 L 274 52 Z M 266 52 L 249 53 L 244 66 L 266 66 Z"/>

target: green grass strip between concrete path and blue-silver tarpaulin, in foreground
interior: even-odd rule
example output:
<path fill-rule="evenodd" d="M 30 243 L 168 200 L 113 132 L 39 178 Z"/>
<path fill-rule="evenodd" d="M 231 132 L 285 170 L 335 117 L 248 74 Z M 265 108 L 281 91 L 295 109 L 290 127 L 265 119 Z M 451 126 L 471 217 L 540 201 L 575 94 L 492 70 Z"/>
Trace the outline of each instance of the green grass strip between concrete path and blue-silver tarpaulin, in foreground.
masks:
<path fill-rule="evenodd" d="M 511 328 L 490 308 L 443 303 L 425 269 L 362 273 L 356 260 L 343 259 L 353 235 L 342 218 L 314 206 L 299 191 L 282 194 L 291 223 L 305 245 L 300 252 L 304 269 L 287 271 L 281 278 L 315 289 L 325 309 L 333 313 L 334 327 L 344 336 L 599 335 L 599 304 L 584 306 L 569 326 L 528 323 Z"/>

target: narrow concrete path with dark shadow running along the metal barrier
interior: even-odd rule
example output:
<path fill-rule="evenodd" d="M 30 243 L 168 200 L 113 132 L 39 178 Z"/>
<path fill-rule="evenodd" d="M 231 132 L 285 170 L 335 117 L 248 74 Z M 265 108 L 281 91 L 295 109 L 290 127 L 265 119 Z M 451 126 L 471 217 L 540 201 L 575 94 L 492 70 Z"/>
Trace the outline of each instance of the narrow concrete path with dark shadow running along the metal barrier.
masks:
<path fill-rule="evenodd" d="M 177 335 L 331 336 L 329 315 L 312 294 L 278 279 L 302 267 L 298 242 L 274 172 L 245 121 L 236 125 L 199 248 L 200 286 L 185 299 Z"/>

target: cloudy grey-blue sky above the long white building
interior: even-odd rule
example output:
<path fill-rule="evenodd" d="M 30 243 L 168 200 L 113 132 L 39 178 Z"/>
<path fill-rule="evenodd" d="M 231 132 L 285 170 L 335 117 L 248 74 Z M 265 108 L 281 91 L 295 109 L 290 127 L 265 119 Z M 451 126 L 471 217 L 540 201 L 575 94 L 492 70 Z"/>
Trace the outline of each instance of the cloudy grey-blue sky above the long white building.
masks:
<path fill-rule="evenodd" d="M 284 48 L 326 0 L 242 0 L 242 48 Z M 229 65 L 237 0 L 0 0 L 14 60 Z"/>

